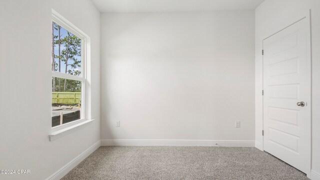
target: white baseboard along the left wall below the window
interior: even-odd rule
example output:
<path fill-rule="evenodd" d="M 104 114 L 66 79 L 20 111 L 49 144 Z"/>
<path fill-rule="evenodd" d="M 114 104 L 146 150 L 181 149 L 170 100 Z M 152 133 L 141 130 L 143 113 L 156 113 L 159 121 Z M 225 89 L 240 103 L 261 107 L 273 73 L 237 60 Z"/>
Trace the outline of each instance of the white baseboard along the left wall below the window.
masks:
<path fill-rule="evenodd" d="M 62 178 L 72 168 L 74 168 L 77 164 L 79 164 L 83 159 L 85 159 L 87 156 L 89 156 L 94 150 L 96 150 L 98 147 L 100 147 L 100 144 L 101 144 L 100 140 L 95 142 L 89 148 L 84 150 L 82 153 L 80 153 L 74 159 L 69 161 L 67 164 L 65 164 L 63 167 L 61 167 L 59 170 L 57 170 L 52 175 L 50 175 L 48 178 L 46 178 L 46 180 L 58 180 L 58 179 Z"/>

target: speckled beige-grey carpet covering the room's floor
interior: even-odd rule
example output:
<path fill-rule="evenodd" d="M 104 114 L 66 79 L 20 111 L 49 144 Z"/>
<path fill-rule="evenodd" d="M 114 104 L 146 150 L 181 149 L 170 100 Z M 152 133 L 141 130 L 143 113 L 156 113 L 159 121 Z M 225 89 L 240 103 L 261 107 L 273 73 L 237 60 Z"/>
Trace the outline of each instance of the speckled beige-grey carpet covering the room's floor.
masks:
<path fill-rule="evenodd" d="M 67 179 L 308 179 L 253 147 L 101 146 Z"/>

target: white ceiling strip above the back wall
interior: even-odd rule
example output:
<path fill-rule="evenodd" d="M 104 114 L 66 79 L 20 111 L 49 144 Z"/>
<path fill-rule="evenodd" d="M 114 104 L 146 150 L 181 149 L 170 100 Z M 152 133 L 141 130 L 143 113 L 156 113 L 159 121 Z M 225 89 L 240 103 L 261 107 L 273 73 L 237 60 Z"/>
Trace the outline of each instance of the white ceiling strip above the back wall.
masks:
<path fill-rule="evenodd" d="M 100 12 L 173 12 L 255 9 L 263 0 L 92 0 Z"/>

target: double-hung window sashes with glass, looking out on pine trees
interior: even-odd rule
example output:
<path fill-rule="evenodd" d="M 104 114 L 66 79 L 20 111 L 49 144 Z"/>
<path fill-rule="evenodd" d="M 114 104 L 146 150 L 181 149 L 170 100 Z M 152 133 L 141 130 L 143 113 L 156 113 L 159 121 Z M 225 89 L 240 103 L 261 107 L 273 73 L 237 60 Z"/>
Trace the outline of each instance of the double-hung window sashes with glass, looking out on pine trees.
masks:
<path fill-rule="evenodd" d="M 85 118 L 85 36 L 52 14 L 52 127 Z"/>

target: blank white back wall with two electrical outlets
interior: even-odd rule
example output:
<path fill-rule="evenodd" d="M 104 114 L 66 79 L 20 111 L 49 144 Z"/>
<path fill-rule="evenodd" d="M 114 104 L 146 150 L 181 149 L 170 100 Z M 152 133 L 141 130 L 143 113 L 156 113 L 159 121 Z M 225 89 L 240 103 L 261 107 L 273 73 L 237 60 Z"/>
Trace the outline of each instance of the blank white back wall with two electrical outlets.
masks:
<path fill-rule="evenodd" d="M 101 139 L 254 140 L 254 11 L 101 14 Z"/>

